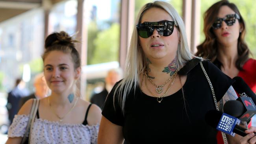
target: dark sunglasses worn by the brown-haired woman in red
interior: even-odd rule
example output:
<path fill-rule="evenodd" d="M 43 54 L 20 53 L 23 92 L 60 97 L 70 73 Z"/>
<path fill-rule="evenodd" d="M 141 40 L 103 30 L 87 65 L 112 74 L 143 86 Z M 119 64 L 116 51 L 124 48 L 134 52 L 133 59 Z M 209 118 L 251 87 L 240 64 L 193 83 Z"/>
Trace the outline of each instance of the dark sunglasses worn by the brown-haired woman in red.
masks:
<path fill-rule="evenodd" d="M 226 17 L 224 18 L 217 18 L 217 20 L 215 20 L 211 27 L 215 30 L 221 28 L 222 21 L 224 21 L 227 26 L 233 26 L 233 24 L 236 22 L 236 19 L 240 19 L 237 13 L 232 15 L 226 15 Z"/>

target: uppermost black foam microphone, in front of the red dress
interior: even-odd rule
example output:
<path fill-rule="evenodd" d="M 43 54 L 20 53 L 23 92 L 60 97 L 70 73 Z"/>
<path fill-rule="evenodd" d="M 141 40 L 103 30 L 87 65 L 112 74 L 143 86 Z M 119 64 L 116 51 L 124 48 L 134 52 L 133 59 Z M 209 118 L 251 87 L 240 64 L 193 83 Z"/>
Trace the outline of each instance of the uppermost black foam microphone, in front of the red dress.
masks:
<path fill-rule="evenodd" d="M 252 98 L 252 101 L 255 103 L 256 102 L 256 94 L 254 94 L 254 92 L 245 83 L 245 81 L 239 76 L 236 76 L 233 79 L 236 81 L 232 84 L 232 87 L 236 90 L 236 92 L 240 96 L 246 96 L 246 97 Z"/>

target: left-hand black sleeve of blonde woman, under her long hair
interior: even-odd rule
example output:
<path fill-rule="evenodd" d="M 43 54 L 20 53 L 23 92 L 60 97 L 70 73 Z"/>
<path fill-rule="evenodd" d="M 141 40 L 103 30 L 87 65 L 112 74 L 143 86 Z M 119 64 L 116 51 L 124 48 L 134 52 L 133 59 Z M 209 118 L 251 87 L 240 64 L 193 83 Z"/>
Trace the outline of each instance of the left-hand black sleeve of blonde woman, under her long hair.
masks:
<path fill-rule="evenodd" d="M 113 87 L 113 89 L 109 92 L 106 102 L 104 104 L 104 108 L 102 110 L 102 115 L 107 118 L 113 124 L 123 126 L 124 124 L 124 116 L 122 112 L 122 108 L 119 104 L 118 96 L 115 96 L 115 107 L 114 107 L 114 92 L 117 83 Z"/>

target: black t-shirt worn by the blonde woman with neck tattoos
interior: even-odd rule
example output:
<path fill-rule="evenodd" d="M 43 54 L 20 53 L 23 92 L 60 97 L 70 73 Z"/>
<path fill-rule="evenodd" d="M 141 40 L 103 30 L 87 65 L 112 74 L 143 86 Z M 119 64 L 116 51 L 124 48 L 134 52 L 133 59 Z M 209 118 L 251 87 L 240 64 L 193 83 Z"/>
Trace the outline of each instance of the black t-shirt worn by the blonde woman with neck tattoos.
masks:
<path fill-rule="evenodd" d="M 208 61 L 202 62 L 219 101 L 233 80 Z M 113 89 L 114 90 L 114 89 Z M 130 144 L 197 143 L 216 144 L 217 130 L 204 120 L 206 112 L 216 109 L 209 83 L 198 63 L 187 73 L 182 89 L 164 97 L 158 103 L 136 87 L 126 98 L 124 115 L 115 101 L 113 90 L 109 93 L 102 115 L 113 124 L 123 127 L 123 135 Z"/>

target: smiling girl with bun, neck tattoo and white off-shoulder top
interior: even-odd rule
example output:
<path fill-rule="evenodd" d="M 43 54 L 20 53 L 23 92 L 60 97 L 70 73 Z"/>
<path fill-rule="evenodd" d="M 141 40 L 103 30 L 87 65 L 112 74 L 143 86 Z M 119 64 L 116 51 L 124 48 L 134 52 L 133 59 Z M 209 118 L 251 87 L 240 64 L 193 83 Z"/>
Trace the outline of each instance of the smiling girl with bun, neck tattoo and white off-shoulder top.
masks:
<path fill-rule="evenodd" d="M 45 40 L 44 76 L 50 96 L 39 100 L 35 121 L 29 132 L 30 144 L 96 144 L 100 108 L 82 100 L 76 82 L 81 59 L 76 40 L 66 32 L 52 33 Z M 15 115 L 8 130 L 7 144 L 20 144 L 25 135 L 33 100 Z"/>

